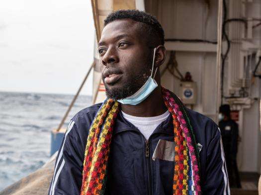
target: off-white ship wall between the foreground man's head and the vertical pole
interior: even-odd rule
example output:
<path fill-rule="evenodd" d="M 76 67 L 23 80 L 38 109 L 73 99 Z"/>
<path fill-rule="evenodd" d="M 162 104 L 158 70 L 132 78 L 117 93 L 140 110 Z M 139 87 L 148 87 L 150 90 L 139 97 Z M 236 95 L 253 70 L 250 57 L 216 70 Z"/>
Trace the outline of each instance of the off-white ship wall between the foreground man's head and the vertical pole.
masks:
<path fill-rule="evenodd" d="M 210 6 L 204 0 L 145 0 L 146 11 L 156 15 L 160 20 L 165 39 L 217 39 L 217 2 L 210 0 Z M 177 42 L 171 42 L 176 44 Z M 166 43 L 166 45 L 169 43 Z M 181 42 L 181 44 L 184 44 Z M 209 43 L 213 47 L 214 44 Z M 214 45 L 216 46 L 216 45 Z M 168 48 L 167 48 L 168 49 Z M 187 71 L 197 83 L 197 104 L 193 107 L 212 119 L 216 112 L 216 52 L 182 51 L 177 48 L 176 60 L 178 69 L 184 76 Z M 169 61 L 168 51 L 166 63 Z M 161 70 L 164 69 L 162 66 Z M 162 85 L 179 92 L 179 81 L 169 72 L 162 77 Z"/>

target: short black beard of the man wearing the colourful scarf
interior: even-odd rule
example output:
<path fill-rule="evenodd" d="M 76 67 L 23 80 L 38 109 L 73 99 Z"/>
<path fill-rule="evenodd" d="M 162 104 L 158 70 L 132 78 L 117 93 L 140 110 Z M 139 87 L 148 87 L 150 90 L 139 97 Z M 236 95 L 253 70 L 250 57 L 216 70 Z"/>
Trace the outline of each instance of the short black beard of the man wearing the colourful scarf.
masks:
<path fill-rule="evenodd" d="M 109 89 L 106 83 L 103 81 L 106 96 L 113 100 L 127 98 L 135 94 L 148 80 L 151 75 L 152 57 L 148 56 L 145 67 L 135 75 L 129 75 L 127 80 L 121 85 L 121 87 L 115 89 Z"/>

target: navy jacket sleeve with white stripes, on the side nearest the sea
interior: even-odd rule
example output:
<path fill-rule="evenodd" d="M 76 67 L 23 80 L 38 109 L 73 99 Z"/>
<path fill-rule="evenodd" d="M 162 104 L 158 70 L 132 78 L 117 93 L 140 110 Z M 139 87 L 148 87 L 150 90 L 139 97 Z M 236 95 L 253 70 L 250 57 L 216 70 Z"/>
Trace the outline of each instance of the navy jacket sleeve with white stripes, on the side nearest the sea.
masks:
<path fill-rule="evenodd" d="M 61 143 L 48 195 L 80 195 L 84 149 L 79 130 L 71 120 Z"/>

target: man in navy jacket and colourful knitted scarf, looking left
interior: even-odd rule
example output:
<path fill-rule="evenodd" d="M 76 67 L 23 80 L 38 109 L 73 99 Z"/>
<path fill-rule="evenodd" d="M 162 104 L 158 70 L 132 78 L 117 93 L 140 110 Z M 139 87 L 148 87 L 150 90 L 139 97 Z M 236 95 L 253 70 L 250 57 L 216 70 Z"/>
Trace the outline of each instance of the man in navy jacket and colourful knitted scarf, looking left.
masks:
<path fill-rule="evenodd" d="M 218 126 L 161 87 L 158 20 L 109 14 L 98 52 L 108 99 L 71 120 L 49 194 L 229 194 Z"/>

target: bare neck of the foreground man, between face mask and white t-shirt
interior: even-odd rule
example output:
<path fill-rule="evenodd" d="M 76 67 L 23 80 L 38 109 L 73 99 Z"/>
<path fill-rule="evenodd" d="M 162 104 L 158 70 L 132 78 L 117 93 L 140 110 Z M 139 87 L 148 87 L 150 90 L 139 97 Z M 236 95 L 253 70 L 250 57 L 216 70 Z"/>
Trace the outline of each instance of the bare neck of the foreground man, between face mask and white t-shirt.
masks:
<path fill-rule="evenodd" d="M 137 105 L 121 104 L 121 110 L 132 116 L 151 117 L 159 116 L 167 111 L 162 97 L 161 86 L 157 87 L 151 95 Z"/>

